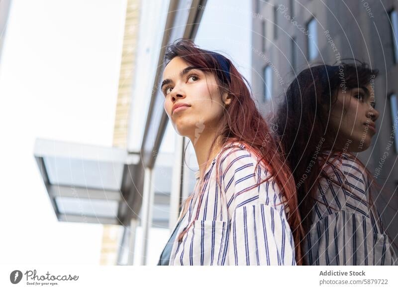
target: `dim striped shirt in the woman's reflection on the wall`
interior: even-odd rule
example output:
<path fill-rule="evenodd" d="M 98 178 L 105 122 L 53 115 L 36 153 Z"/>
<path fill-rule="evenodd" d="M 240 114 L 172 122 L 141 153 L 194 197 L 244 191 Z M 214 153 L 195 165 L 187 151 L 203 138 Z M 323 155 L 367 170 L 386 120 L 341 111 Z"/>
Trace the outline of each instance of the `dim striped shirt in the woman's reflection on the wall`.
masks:
<path fill-rule="evenodd" d="M 333 161 L 334 160 L 334 161 Z M 328 180 L 317 184 L 312 225 L 306 235 L 304 256 L 308 265 L 397 265 L 397 256 L 369 210 L 370 182 L 365 168 L 351 157 L 329 158 Z M 330 182 L 345 180 L 345 187 Z"/>

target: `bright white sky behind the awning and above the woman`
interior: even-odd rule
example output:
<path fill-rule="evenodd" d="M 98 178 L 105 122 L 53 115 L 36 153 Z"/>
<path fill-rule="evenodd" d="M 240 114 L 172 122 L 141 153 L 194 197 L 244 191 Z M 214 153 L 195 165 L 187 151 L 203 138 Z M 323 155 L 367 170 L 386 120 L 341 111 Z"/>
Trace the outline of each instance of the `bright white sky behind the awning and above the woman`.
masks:
<path fill-rule="evenodd" d="M 225 52 L 250 81 L 250 51 L 225 37 L 251 43 L 251 1 L 217 2 L 229 10 L 204 12 L 197 43 Z M 1 264 L 99 264 L 102 226 L 57 221 L 33 145 L 36 138 L 112 145 L 125 4 L 12 1 L 0 63 Z M 167 135 L 172 142 L 172 126 Z M 150 264 L 166 236 L 150 241 L 157 249 Z"/>

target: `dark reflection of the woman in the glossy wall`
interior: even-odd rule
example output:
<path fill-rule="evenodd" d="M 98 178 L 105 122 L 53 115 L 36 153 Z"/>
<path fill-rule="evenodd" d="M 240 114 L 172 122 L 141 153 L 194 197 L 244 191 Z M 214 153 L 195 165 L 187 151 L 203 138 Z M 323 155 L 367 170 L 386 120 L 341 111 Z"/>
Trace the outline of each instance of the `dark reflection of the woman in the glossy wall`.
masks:
<path fill-rule="evenodd" d="M 376 133 L 376 75 L 365 64 L 305 69 L 277 113 L 278 135 L 298 190 L 304 264 L 395 263 L 371 200 L 373 179 L 353 154 L 366 150 Z"/>

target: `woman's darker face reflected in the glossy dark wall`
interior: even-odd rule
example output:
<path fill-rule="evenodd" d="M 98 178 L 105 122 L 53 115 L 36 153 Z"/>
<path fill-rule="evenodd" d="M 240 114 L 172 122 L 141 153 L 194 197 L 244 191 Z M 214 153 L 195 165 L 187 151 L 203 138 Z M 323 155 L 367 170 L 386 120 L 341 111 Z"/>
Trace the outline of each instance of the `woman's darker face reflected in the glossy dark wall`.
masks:
<path fill-rule="evenodd" d="M 336 146 L 343 150 L 366 150 L 376 134 L 375 121 L 379 112 L 374 108 L 375 97 L 370 84 L 365 87 L 340 89 L 331 110 L 330 125 L 337 130 Z"/>

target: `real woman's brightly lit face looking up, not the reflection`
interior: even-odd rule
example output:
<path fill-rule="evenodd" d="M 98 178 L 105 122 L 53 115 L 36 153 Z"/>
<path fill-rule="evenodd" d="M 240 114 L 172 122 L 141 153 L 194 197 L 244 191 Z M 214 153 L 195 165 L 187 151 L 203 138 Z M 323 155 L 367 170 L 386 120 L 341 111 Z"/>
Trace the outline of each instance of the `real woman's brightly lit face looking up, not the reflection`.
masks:
<path fill-rule="evenodd" d="M 216 130 L 224 104 L 212 73 L 195 69 L 181 57 L 173 58 L 163 72 L 164 108 L 181 136 L 191 140 L 204 130 Z M 175 105 L 186 104 L 173 110 Z"/>

